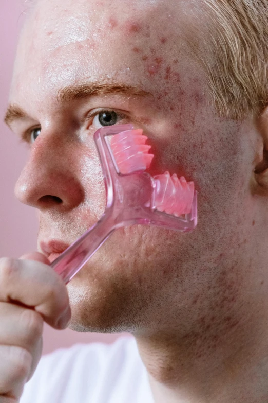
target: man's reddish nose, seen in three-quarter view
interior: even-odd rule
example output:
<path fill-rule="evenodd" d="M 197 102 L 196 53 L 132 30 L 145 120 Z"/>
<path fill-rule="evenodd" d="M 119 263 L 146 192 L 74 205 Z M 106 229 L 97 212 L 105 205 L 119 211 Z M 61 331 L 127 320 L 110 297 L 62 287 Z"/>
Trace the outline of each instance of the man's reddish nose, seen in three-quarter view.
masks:
<path fill-rule="evenodd" d="M 75 208 L 84 199 L 78 163 L 73 147 L 53 142 L 42 133 L 32 145 L 16 183 L 15 196 L 41 211 L 58 209 L 63 212 Z"/>

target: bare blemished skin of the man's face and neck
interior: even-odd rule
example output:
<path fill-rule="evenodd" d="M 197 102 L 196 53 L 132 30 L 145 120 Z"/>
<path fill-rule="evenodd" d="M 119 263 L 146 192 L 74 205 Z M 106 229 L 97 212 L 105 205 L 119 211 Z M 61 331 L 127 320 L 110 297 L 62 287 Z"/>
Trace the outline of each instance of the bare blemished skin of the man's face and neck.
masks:
<path fill-rule="evenodd" d="M 130 331 L 156 402 L 268 399 L 266 115 L 220 119 L 184 41 L 201 2 L 40 0 L 25 24 L 10 102 L 42 127 L 16 185 L 40 210 L 41 241 L 68 244 L 105 207 L 89 111 L 123 111 L 144 130 L 152 174 L 193 180 L 199 223 L 187 234 L 118 230 L 68 284 L 70 328 Z M 196 29 L 197 40 L 205 31 Z M 59 90 L 119 82 L 149 99 L 94 96 L 59 103 Z M 258 174 L 256 166 L 261 167 Z M 55 199 L 58 198 L 58 199 Z M 59 203 L 59 199 L 62 203 Z"/>

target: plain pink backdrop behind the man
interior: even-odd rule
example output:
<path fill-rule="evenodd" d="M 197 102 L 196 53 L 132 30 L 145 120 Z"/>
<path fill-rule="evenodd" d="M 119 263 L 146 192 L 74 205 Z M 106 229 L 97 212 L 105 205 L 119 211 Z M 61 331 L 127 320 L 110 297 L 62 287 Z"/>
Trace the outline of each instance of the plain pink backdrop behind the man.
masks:
<path fill-rule="evenodd" d="M 18 202 L 13 188 L 27 159 L 28 150 L 5 126 L 9 85 L 18 33 L 23 21 L 23 0 L 0 0 L 0 256 L 20 257 L 36 250 L 37 219 L 34 209 Z M 57 331 L 45 324 L 43 354 L 74 343 L 103 341 L 110 343 L 118 335 L 79 334 Z"/>

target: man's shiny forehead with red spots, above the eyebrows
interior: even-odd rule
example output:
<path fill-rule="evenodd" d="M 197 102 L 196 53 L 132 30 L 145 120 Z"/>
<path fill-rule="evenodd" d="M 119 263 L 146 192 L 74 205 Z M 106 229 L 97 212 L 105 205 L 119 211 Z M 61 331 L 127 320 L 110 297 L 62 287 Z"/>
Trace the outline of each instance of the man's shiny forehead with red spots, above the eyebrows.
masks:
<path fill-rule="evenodd" d="M 123 80 L 157 90 L 160 79 L 170 76 L 171 64 L 180 56 L 183 65 L 187 58 L 183 33 L 195 2 L 172 3 L 37 1 L 18 46 L 11 101 L 34 94 L 51 97 L 83 79 Z"/>

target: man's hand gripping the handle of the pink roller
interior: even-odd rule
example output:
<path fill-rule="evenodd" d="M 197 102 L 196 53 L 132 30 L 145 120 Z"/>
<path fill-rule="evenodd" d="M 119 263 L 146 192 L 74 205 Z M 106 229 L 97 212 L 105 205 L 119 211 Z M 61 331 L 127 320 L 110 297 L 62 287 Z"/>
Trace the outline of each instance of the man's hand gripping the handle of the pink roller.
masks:
<path fill-rule="evenodd" d="M 16 403 L 42 353 L 43 323 L 71 318 L 67 288 L 41 253 L 0 259 L 0 403 Z"/>

